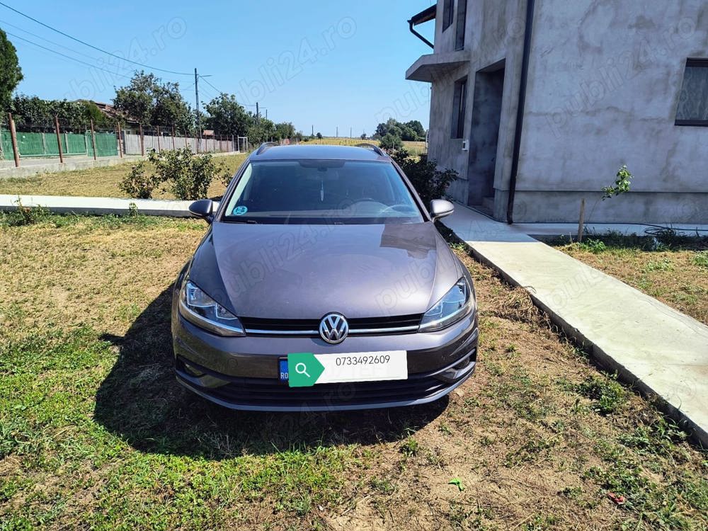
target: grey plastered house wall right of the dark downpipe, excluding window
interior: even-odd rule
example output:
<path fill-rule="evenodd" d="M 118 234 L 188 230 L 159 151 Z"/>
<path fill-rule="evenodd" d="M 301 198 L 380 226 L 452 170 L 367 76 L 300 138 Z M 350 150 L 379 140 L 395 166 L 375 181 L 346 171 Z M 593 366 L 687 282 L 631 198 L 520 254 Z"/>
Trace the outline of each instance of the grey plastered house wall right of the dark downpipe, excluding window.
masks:
<path fill-rule="evenodd" d="M 707 31 L 704 0 L 538 1 L 515 220 L 573 221 L 627 164 L 590 221 L 707 223 L 708 127 L 674 125 Z"/>

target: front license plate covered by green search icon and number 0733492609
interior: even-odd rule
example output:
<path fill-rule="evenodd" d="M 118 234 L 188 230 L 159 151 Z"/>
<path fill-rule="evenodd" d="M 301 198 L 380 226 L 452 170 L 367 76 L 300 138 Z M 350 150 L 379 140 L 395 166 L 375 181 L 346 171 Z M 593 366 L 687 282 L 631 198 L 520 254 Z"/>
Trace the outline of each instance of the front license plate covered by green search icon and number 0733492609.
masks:
<path fill-rule="evenodd" d="M 282 368 L 280 372 L 282 374 Z M 408 357 L 406 350 L 342 354 L 300 352 L 287 355 L 286 372 L 290 387 L 406 379 Z"/>

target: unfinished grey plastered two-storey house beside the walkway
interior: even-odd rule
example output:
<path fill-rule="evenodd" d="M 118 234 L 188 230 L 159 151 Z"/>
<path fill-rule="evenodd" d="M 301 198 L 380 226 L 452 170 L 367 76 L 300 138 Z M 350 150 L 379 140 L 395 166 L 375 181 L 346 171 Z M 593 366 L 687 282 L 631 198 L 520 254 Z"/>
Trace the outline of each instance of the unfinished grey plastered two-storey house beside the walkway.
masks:
<path fill-rule="evenodd" d="M 435 21 L 435 42 L 418 32 Z M 496 219 L 708 223 L 705 0 L 441 0 L 409 21 L 433 47 L 431 159 Z M 627 164 L 631 193 L 599 201 Z"/>

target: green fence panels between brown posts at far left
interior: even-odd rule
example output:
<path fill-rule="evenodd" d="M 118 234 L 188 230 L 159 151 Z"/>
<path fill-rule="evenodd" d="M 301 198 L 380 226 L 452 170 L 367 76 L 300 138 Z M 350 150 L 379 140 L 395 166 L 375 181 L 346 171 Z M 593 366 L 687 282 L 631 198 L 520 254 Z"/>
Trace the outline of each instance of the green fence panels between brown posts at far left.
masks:
<path fill-rule="evenodd" d="M 91 133 L 62 133 L 62 153 L 65 156 L 93 156 Z M 1 132 L 2 152 L 4 159 L 13 159 L 12 139 L 9 131 Z M 21 157 L 59 156 L 57 134 L 53 132 L 18 132 L 17 147 Z M 96 155 L 118 155 L 118 142 L 115 133 L 96 133 Z"/>

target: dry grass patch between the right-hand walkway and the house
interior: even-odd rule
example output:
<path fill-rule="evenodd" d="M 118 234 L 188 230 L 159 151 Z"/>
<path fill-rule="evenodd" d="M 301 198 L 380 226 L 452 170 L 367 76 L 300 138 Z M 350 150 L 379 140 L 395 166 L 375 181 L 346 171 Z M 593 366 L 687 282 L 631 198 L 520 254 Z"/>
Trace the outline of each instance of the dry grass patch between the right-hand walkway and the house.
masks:
<path fill-rule="evenodd" d="M 657 245 L 649 238 L 591 236 L 557 249 L 708 324 L 708 237 Z"/>

